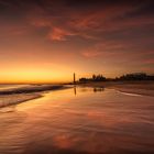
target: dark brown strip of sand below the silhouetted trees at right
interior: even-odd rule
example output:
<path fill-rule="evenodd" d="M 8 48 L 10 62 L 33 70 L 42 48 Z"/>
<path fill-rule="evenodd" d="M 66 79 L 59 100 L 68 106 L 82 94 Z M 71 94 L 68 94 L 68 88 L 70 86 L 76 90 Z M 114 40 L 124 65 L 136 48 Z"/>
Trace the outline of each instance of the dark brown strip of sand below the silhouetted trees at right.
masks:
<path fill-rule="evenodd" d="M 122 92 L 154 97 L 154 81 L 99 81 L 79 85 L 87 87 L 112 88 Z"/>

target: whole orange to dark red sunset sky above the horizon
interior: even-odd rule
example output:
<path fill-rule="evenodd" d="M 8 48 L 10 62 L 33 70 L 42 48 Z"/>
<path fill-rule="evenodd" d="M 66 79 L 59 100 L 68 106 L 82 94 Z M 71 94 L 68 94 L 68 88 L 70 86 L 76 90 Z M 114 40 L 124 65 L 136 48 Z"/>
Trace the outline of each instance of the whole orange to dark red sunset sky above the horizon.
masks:
<path fill-rule="evenodd" d="M 0 0 L 0 82 L 154 74 L 153 0 Z"/>

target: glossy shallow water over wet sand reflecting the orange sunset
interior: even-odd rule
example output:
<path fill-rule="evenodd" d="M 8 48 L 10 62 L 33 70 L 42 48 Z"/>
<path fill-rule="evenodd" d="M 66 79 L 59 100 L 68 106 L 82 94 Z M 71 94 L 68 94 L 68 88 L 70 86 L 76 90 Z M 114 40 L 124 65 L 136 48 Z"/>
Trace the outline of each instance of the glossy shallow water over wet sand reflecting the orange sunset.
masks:
<path fill-rule="evenodd" d="M 0 154 L 58 153 L 154 153 L 154 97 L 78 87 L 0 109 Z"/>

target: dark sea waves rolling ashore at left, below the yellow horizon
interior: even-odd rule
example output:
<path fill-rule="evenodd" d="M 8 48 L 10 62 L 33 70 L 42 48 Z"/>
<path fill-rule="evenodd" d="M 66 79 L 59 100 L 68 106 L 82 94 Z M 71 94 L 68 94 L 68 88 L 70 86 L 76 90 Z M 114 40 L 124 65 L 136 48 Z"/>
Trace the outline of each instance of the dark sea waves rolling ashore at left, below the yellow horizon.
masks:
<path fill-rule="evenodd" d="M 8 86 L 6 86 L 8 87 Z M 63 88 L 62 85 L 21 85 L 0 89 L 0 108 L 42 97 L 43 91 Z"/>

